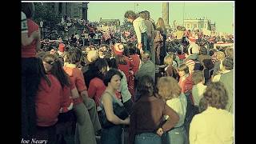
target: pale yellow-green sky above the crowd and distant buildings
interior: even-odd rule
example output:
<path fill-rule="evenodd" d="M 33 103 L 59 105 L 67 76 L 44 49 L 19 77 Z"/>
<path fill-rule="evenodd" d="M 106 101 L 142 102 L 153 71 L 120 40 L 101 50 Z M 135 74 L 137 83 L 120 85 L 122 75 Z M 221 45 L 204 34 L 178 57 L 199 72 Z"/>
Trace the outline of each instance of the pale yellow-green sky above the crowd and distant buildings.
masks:
<path fill-rule="evenodd" d="M 136 4 L 138 3 L 138 6 Z M 103 19 L 119 19 L 123 22 L 126 10 L 139 12 L 142 10 L 150 11 L 150 17 L 157 22 L 162 18 L 162 2 L 89 2 L 88 20 L 99 21 Z M 184 13 L 183 13 L 184 12 Z M 208 18 L 210 22 L 216 22 L 218 32 L 234 34 L 234 2 L 186 2 L 177 1 L 169 2 L 169 24 L 172 25 L 174 20 L 182 25 L 184 19 L 189 18 Z"/>

